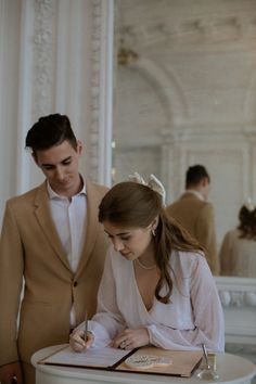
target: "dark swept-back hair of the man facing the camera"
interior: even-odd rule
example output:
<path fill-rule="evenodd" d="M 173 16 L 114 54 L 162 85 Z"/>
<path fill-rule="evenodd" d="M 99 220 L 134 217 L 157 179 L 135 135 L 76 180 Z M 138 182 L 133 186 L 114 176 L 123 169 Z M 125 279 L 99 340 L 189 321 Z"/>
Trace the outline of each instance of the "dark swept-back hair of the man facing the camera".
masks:
<path fill-rule="evenodd" d="M 37 151 L 48 150 L 68 141 L 76 150 L 77 139 L 73 132 L 69 118 L 66 115 L 52 114 L 42 116 L 34 124 L 26 136 L 26 148 L 30 148 L 34 156 Z"/>

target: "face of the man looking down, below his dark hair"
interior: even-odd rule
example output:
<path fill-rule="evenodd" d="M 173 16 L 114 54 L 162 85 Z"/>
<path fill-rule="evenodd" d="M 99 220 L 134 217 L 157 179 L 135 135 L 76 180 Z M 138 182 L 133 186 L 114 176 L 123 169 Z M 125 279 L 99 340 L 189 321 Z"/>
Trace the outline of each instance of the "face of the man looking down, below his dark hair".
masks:
<path fill-rule="evenodd" d="M 81 154 L 81 143 L 78 141 L 75 150 L 68 141 L 54 145 L 49 150 L 37 151 L 36 163 L 41 168 L 54 192 L 72 197 L 80 190 L 78 161 Z"/>

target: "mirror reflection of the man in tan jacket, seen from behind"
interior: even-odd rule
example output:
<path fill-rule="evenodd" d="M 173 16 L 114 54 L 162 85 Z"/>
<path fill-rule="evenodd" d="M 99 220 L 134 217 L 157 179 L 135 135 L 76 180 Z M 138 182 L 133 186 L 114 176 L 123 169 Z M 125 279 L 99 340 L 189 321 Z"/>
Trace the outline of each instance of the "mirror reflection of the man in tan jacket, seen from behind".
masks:
<path fill-rule="evenodd" d="M 207 202 L 210 178 L 203 165 L 189 167 L 185 175 L 185 192 L 166 207 L 166 212 L 179 221 L 205 249 L 213 274 L 219 274 L 219 258 L 215 231 L 214 207 Z"/>

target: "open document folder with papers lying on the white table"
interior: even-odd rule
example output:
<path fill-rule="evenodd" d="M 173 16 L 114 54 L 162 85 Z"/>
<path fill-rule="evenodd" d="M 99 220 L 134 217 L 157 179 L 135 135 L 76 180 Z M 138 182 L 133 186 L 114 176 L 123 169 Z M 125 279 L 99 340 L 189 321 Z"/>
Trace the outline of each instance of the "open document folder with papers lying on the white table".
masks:
<path fill-rule="evenodd" d="M 166 350 L 156 347 L 142 347 L 132 350 L 103 347 L 75 353 L 67 345 L 38 363 L 189 377 L 199 367 L 202 356 L 202 351 Z M 149 363 L 149 361 L 156 363 Z M 161 363 L 162 361 L 164 363 Z"/>

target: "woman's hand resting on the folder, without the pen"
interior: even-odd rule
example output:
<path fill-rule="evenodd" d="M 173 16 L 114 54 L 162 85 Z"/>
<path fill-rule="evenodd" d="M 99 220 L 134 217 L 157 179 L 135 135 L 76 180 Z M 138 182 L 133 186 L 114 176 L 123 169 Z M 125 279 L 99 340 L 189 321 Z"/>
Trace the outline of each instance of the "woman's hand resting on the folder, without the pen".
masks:
<path fill-rule="evenodd" d="M 110 347 L 121 349 L 133 349 L 150 344 L 150 336 L 146 328 L 136 330 L 126 329 L 112 340 Z"/>

